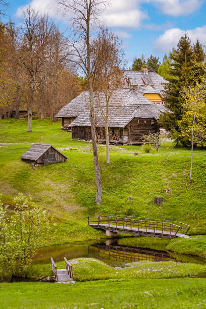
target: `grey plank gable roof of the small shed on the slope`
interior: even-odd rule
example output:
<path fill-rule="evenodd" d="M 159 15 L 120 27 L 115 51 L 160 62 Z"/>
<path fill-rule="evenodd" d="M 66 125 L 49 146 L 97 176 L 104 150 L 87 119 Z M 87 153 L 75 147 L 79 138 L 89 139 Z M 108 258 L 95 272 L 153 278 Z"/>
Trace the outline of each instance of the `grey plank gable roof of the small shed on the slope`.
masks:
<path fill-rule="evenodd" d="M 64 156 L 66 159 L 68 159 L 65 155 L 63 155 L 62 152 L 60 152 L 57 148 L 55 148 L 53 145 L 47 145 L 47 144 L 33 144 L 21 157 L 20 159 L 26 159 L 26 160 L 32 160 L 36 161 L 38 160 L 44 152 L 46 152 L 50 147 L 53 147 L 55 150 L 57 150 L 59 153 L 61 153 L 62 156 Z"/>

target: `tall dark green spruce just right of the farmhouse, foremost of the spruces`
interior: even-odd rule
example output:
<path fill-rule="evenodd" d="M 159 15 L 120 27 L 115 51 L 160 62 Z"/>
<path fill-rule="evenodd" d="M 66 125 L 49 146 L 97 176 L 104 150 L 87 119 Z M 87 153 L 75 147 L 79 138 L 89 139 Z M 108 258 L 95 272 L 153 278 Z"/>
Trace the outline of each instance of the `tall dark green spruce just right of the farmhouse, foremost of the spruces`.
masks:
<path fill-rule="evenodd" d="M 178 121 L 182 119 L 183 98 L 181 89 L 194 84 L 193 57 L 191 40 L 185 34 L 180 38 L 177 48 L 170 53 L 171 67 L 168 78 L 170 83 L 165 84 L 163 94 L 163 100 L 169 111 L 163 113 L 160 117 L 162 125 L 171 132 L 176 144 L 181 141 L 178 125 Z"/>

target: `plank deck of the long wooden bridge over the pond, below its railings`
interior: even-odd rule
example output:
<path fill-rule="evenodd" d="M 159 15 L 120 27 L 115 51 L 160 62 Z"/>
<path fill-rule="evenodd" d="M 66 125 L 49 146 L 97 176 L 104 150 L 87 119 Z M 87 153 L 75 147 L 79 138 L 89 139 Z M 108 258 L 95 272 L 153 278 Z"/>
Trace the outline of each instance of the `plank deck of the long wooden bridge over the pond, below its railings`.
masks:
<path fill-rule="evenodd" d="M 182 237 L 189 238 L 188 235 L 175 233 L 170 231 L 161 231 L 161 230 L 151 230 L 151 229 L 143 229 L 143 228 L 135 228 L 130 226 L 122 226 L 122 225 L 113 225 L 113 224 L 89 224 L 91 227 L 95 229 L 109 230 L 117 233 L 125 233 L 125 234 L 133 234 L 140 236 L 156 236 L 156 237 L 164 237 L 164 238 L 173 238 L 173 237 Z"/>

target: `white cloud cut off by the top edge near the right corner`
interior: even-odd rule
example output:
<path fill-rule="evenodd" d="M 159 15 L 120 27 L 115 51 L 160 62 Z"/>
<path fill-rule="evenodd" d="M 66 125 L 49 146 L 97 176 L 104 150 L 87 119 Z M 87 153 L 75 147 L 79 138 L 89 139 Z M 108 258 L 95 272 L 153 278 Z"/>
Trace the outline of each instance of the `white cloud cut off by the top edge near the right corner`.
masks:
<path fill-rule="evenodd" d="M 203 0 L 148 0 L 164 14 L 172 16 L 189 15 L 200 9 Z"/>

